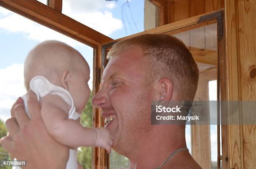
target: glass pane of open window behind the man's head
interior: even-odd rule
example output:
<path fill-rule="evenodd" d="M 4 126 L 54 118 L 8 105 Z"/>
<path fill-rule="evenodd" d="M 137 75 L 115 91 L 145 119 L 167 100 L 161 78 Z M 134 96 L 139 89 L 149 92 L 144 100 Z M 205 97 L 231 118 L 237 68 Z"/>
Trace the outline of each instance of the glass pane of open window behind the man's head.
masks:
<path fill-rule="evenodd" d="M 182 40 L 190 50 L 200 71 L 195 100 L 217 100 L 217 24 L 184 31 L 174 36 Z M 217 109 L 212 109 L 210 113 L 217 114 Z M 217 166 L 217 138 L 217 125 L 186 126 L 187 146 L 191 145 L 189 152 L 202 168 Z"/>

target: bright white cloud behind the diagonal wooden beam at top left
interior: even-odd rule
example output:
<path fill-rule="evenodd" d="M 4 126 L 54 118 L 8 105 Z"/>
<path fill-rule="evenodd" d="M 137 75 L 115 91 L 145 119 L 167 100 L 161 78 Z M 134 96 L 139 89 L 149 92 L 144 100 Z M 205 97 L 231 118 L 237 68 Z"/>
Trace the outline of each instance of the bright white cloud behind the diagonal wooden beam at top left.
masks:
<path fill-rule="evenodd" d="M 46 3 L 46 0 L 39 1 Z M 121 20 L 114 18 L 111 12 L 107 10 L 100 11 L 114 7 L 114 3 L 108 3 L 105 0 L 63 1 L 63 13 L 65 15 L 105 35 L 110 35 L 122 27 Z M 3 7 L 0 7 L 0 28 L 8 30 L 11 33 L 21 33 L 26 38 L 38 42 L 44 40 L 60 40 L 73 47 L 82 45 L 82 43 L 72 38 L 46 28 Z"/>

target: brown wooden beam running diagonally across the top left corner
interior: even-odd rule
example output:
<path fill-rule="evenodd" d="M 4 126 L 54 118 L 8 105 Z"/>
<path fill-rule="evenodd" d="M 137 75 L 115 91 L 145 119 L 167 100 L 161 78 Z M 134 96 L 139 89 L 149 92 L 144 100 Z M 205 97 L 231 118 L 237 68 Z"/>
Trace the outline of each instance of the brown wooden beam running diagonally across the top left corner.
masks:
<path fill-rule="evenodd" d="M 97 48 L 97 45 L 113 40 L 37 0 L 0 0 L 0 6 L 92 48 Z"/>

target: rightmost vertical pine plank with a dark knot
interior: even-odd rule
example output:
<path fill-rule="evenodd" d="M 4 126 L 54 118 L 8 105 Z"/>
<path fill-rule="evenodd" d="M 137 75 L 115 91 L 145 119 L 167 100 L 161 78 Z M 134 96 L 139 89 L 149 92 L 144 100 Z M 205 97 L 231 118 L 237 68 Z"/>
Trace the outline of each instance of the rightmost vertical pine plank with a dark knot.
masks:
<path fill-rule="evenodd" d="M 238 0 L 237 8 L 241 100 L 256 100 L 256 1 Z M 253 169 L 256 166 L 256 126 L 247 125 L 246 119 L 249 118 L 243 109 L 243 167 Z"/>

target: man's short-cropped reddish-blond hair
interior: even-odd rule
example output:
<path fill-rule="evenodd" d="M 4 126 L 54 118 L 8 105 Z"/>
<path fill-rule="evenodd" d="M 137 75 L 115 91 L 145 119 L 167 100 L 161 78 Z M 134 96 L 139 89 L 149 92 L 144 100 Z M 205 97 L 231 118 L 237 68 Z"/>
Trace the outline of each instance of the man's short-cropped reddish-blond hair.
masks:
<path fill-rule="evenodd" d="M 199 71 L 189 49 L 174 36 L 144 34 L 115 43 L 107 58 L 132 47 L 141 48 L 147 69 L 146 84 L 161 78 L 169 78 L 179 100 L 194 100 Z"/>

